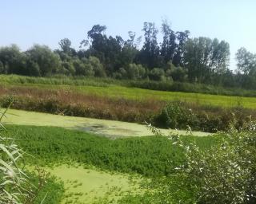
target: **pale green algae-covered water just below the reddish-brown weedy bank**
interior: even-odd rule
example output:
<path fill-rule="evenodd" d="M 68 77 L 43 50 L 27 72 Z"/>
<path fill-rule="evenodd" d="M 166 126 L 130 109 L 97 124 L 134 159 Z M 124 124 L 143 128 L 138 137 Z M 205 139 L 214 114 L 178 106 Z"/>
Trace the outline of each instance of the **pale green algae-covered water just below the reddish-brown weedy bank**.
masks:
<path fill-rule="evenodd" d="M 106 135 L 110 137 L 123 136 L 146 136 L 154 135 L 146 125 L 134 124 L 114 120 L 98 120 L 84 117 L 74 116 L 59 116 L 40 112 L 26 112 L 20 110 L 10 109 L 6 118 L 3 119 L 5 124 L 19 124 L 19 125 L 35 125 L 35 126 L 53 126 L 61 128 L 76 129 L 82 131 L 89 131 L 98 135 Z M 166 130 L 161 129 L 165 135 L 170 132 L 178 133 L 180 135 L 188 135 L 190 132 Z M 206 132 L 195 131 L 194 135 L 204 136 L 209 135 Z"/>

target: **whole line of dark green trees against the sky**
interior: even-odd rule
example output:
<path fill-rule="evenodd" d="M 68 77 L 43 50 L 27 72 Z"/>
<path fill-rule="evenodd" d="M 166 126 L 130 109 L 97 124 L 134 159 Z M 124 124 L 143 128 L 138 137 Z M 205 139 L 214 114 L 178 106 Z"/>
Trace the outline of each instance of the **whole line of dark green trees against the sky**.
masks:
<path fill-rule="evenodd" d="M 34 45 L 22 52 L 17 45 L 0 48 L 0 73 L 47 77 L 55 74 L 113 77 L 129 80 L 166 80 L 256 88 L 256 55 L 238 49 L 237 70 L 229 69 L 230 45 L 217 38 L 190 37 L 190 31 L 174 31 L 162 21 L 159 30 L 145 22 L 143 37 L 128 32 L 128 39 L 107 36 L 106 26 L 95 25 L 74 49 L 71 41 L 59 41 L 59 49 Z M 143 44 L 141 45 L 143 38 Z"/>

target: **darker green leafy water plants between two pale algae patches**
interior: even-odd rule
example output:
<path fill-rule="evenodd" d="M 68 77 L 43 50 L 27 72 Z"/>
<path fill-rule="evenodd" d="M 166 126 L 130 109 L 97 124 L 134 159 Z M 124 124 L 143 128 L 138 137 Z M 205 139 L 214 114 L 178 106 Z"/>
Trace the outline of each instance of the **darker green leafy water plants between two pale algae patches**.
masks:
<path fill-rule="evenodd" d="M 35 126 L 7 126 L 6 136 L 17 139 L 24 151 L 37 159 L 26 157 L 28 163 L 40 166 L 62 163 L 94 165 L 102 170 L 137 173 L 155 177 L 174 172 L 184 162 L 182 150 L 163 136 L 107 139 L 82 131 Z M 217 139 L 186 136 L 208 148 Z"/>

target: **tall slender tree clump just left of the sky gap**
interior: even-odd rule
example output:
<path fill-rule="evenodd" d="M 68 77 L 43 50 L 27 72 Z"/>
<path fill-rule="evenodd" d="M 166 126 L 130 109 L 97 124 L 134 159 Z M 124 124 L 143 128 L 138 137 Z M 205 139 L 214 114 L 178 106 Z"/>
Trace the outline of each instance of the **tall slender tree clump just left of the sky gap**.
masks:
<path fill-rule="evenodd" d="M 192 38 L 186 42 L 185 50 L 184 65 L 190 81 L 209 82 L 211 77 L 226 73 L 230 47 L 225 41 L 219 43 L 209 37 Z"/>

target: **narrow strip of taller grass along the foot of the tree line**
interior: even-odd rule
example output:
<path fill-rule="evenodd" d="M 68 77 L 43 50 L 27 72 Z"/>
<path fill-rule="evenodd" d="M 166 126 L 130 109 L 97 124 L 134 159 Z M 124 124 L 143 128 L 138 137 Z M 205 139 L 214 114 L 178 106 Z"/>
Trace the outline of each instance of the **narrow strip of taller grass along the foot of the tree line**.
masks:
<path fill-rule="evenodd" d="M 52 84 L 52 85 L 70 85 L 70 86 L 122 86 L 126 88 L 144 88 L 169 92 L 194 92 L 206 93 L 223 96 L 256 96 L 254 90 L 242 88 L 223 88 L 222 86 L 213 86 L 210 84 L 190 84 L 172 81 L 152 81 L 152 80 L 116 80 L 114 78 L 97 77 L 24 77 L 18 75 L 0 75 L 2 84 Z"/>

